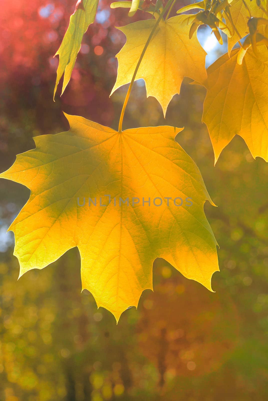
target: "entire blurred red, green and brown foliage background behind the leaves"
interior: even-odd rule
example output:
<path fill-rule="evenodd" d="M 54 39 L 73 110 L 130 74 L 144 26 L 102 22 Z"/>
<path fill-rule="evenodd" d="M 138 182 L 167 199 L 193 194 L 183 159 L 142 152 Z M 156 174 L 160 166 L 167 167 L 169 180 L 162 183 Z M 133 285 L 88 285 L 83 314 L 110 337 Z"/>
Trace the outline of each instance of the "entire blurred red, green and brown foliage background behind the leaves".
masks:
<path fill-rule="evenodd" d="M 178 2 L 177 8 L 186 4 Z M 0 13 L 0 169 L 34 147 L 33 136 L 68 130 L 62 110 L 117 128 L 126 88 L 111 98 L 127 10 L 102 0 L 69 86 L 52 101 L 57 59 L 75 0 L 2 0 Z M 174 10 L 175 12 L 175 10 Z M 132 20 L 147 18 L 138 12 Z M 207 63 L 223 50 L 206 29 Z M 6 230 L 29 197 L 0 180 L 0 400 L 2 401 L 263 401 L 268 399 L 268 164 L 235 137 L 213 166 L 205 90 L 187 85 L 166 120 L 143 82 L 131 95 L 123 128 L 184 126 L 176 140 L 199 166 L 217 208 L 205 205 L 220 245 L 221 271 L 211 293 L 162 259 L 154 292 L 138 310 L 113 316 L 81 293 L 72 249 L 17 281 L 14 237 Z M 238 88 L 239 90 L 239 88 Z M 58 90 L 59 92 L 59 90 Z M 235 107 L 235 105 L 234 105 Z"/>

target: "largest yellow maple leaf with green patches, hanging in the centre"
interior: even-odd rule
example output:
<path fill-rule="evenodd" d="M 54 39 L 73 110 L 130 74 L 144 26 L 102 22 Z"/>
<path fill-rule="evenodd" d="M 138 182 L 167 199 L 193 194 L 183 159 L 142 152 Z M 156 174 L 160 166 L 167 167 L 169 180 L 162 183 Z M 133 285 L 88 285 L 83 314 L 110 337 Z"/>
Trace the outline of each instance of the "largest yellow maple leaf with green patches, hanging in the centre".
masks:
<path fill-rule="evenodd" d="M 20 276 L 77 246 L 82 288 L 117 320 L 152 289 L 156 257 L 211 290 L 216 240 L 203 207 L 212 201 L 197 166 L 174 140 L 181 128 L 119 133 L 67 118 L 68 132 L 36 137 L 36 148 L 0 175 L 31 190 L 10 226 Z"/>

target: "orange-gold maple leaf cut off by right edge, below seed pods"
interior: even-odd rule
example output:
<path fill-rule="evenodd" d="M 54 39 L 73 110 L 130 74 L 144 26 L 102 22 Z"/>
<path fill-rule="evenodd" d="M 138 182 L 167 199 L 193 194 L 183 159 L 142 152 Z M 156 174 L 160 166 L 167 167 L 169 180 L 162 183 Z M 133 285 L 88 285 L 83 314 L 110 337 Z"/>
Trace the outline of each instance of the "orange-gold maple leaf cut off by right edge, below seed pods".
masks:
<path fill-rule="evenodd" d="M 265 46 L 260 49 L 258 57 L 249 49 L 242 65 L 236 49 L 230 59 L 226 53 L 208 68 L 202 121 L 210 133 L 215 163 L 236 134 L 254 158 L 268 161 L 268 51 Z"/>

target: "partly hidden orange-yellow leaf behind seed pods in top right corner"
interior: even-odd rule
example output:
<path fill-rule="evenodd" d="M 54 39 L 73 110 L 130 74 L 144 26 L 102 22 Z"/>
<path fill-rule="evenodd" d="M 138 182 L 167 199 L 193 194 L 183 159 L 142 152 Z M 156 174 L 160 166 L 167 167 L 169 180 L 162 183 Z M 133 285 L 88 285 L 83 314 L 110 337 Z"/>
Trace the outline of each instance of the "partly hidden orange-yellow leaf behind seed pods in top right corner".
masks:
<path fill-rule="evenodd" d="M 247 8 L 244 5 L 246 4 Z M 232 17 L 232 21 L 228 20 L 226 17 L 226 25 L 230 28 L 230 31 L 233 32 L 233 36 L 228 38 L 228 54 L 230 55 L 232 48 L 234 45 L 244 36 L 249 33 L 248 28 L 248 20 L 250 18 L 250 14 L 252 17 L 262 18 L 265 17 L 265 13 L 258 6 L 256 0 L 232 0 L 230 3 L 230 14 Z M 261 2 L 262 8 L 266 8 L 266 1 Z M 250 11 L 250 14 L 249 14 Z M 232 25 L 233 22 L 233 25 Z M 236 29 L 234 29 L 234 27 Z M 264 28 L 260 30 L 260 33 L 264 33 Z"/>

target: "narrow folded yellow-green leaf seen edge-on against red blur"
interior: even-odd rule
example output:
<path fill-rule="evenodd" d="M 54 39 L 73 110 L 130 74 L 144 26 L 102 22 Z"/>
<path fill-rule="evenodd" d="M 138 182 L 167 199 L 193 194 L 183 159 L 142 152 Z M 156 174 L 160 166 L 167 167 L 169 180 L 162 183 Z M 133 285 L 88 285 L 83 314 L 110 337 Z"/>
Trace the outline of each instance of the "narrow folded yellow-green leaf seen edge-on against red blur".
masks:
<path fill-rule="evenodd" d="M 59 56 L 56 83 L 54 87 L 54 97 L 60 78 L 64 74 L 61 94 L 68 85 L 77 54 L 81 48 L 81 42 L 87 28 L 95 20 L 98 8 L 98 0 L 79 0 L 75 12 L 70 17 L 68 29 L 65 32 L 62 43 L 55 56 Z"/>

